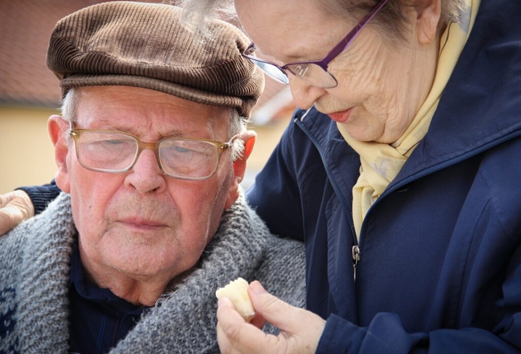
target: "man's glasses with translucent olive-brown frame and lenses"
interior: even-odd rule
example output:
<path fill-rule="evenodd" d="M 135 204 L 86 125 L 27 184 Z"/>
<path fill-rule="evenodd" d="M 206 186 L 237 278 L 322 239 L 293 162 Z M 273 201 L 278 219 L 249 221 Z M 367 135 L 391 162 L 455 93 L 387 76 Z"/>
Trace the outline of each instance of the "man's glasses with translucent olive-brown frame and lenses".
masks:
<path fill-rule="evenodd" d="M 192 180 L 211 177 L 221 153 L 238 137 L 235 135 L 228 142 L 167 137 L 152 143 L 118 130 L 75 129 L 72 123 L 70 135 L 76 142 L 78 161 L 91 171 L 127 172 L 141 151 L 150 149 L 155 152 L 157 163 L 165 175 Z"/>

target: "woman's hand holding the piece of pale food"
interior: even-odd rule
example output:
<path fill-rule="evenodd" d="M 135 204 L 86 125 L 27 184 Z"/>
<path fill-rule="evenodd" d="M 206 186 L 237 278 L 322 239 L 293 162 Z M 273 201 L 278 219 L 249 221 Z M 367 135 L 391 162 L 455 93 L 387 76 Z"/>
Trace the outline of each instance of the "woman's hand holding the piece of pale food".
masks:
<path fill-rule="evenodd" d="M 316 314 L 293 307 L 264 290 L 261 283 L 250 284 L 248 293 L 255 308 L 252 324 L 235 311 L 232 302 L 223 297 L 217 309 L 217 341 L 223 354 L 314 353 L 326 321 Z M 261 329 L 264 320 L 280 329 L 275 336 Z"/>

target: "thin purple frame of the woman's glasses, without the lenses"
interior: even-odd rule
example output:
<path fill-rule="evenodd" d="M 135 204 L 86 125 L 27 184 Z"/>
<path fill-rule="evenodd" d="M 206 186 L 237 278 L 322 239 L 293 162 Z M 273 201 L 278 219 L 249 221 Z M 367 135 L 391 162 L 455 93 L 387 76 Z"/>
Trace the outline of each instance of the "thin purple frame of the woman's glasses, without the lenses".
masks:
<path fill-rule="evenodd" d="M 315 64 L 315 65 L 318 65 L 320 68 L 322 68 L 325 72 L 327 72 L 329 63 L 331 61 L 333 61 L 334 58 L 338 57 L 345 49 L 348 49 L 348 47 L 354 41 L 354 39 L 356 38 L 358 33 L 360 33 L 360 31 L 365 27 L 365 25 L 377 14 L 378 11 L 380 11 L 380 9 L 383 7 L 383 5 L 387 4 L 388 1 L 389 0 L 381 0 L 378 4 L 376 4 L 376 6 L 373 7 L 373 9 L 371 9 L 371 11 L 369 11 L 369 13 L 360 22 L 358 22 L 356 24 L 356 26 L 351 31 L 349 31 L 349 33 L 344 38 L 342 38 L 342 40 L 336 46 L 334 46 L 333 49 L 331 49 L 324 58 L 322 58 L 320 60 L 293 61 L 290 63 L 286 63 L 282 66 L 279 66 L 274 62 L 262 60 L 257 57 L 251 56 L 250 54 L 246 54 L 255 49 L 254 43 L 251 43 L 246 48 L 246 50 L 243 51 L 242 55 L 245 56 L 246 58 L 253 60 L 254 63 L 255 63 L 255 61 L 258 61 L 258 62 L 264 62 L 267 64 L 274 65 L 275 67 L 279 68 L 279 70 L 281 72 L 283 72 L 284 74 L 286 74 L 285 70 L 288 70 L 292 74 L 295 74 L 289 68 L 290 65 L 302 65 L 302 64 Z M 286 74 L 286 76 L 287 76 L 287 74 Z M 333 78 L 334 78 L 334 76 L 333 76 Z M 336 81 L 336 79 L 335 79 L 335 81 Z"/>

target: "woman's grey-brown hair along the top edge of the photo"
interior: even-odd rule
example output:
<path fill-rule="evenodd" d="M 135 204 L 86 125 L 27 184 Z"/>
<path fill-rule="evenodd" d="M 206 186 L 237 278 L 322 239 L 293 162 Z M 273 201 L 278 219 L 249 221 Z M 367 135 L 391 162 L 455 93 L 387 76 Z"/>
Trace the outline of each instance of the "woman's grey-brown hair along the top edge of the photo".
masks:
<path fill-rule="evenodd" d="M 168 0 L 164 0 L 168 2 Z M 415 0 L 389 0 L 389 2 L 375 16 L 373 23 L 379 25 L 384 38 L 389 44 L 403 41 L 405 6 L 414 6 Z M 201 34 L 206 34 L 204 19 L 219 15 L 224 19 L 237 19 L 232 0 L 177 0 L 176 3 L 184 8 L 183 19 L 191 22 Z M 376 0 L 330 0 L 317 1 L 317 6 L 327 14 L 344 16 L 359 20 L 376 5 Z M 460 12 L 468 0 L 441 0 L 440 28 L 451 22 L 460 22 Z"/>

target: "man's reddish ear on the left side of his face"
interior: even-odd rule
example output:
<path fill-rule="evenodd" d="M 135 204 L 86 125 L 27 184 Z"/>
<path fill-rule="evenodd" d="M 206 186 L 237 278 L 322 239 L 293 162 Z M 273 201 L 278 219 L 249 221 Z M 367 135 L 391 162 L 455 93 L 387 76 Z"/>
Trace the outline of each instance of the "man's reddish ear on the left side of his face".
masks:
<path fill-rule="evenodd" d="M 47 121 L 47 131 L 54 145 L 54 161 L 58 166 L 56 185 L 66 193 L 70 192 L 69 171 L 67 168 L 67 153 L 69 151 L 65 137 L 69 123 L 58 115 L 51 115 Z"/>

